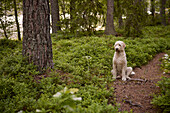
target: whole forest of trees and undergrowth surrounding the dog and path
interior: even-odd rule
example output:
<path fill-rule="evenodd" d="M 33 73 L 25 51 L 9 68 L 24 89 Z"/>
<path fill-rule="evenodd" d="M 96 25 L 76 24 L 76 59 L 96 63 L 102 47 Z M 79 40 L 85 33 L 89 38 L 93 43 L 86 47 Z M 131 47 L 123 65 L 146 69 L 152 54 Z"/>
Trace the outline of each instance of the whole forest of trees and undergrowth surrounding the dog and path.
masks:
<path fill-rule="evenodd" d="M 0 112 L 135 112 L 116 101 L 118 40 L 133 68 L 166 53 L 148 95 L 170 111 L 169 0 L 1 0 L 0 23 Z"/>

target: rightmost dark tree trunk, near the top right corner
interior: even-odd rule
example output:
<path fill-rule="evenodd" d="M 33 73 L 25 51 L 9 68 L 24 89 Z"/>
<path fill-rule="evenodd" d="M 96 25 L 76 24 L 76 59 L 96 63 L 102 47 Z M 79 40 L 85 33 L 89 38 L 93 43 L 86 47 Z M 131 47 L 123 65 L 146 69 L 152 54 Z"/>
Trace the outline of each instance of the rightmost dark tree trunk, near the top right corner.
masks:
<path fill-rule="evenodd" d="M 166 4 L 166 0 L 161 0 L 161 8 L 160 8 L 161 24 L 164 26 L 166 26 L 165 4 Z"/>

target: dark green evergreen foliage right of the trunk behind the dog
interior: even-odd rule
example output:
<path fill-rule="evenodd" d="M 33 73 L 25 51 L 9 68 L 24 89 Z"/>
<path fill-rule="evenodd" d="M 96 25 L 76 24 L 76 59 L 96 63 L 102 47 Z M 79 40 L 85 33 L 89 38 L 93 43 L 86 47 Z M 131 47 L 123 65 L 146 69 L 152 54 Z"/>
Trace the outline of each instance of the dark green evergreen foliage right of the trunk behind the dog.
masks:
<path fill-rule="evenodd" d="M 142 35 L 142 29 L 145 25 L 147 12 L 145 11 L 146 2 L 141 0 L 124 0 L 125 7 L 125 35 L 127 37 L 139 37 Z"/>

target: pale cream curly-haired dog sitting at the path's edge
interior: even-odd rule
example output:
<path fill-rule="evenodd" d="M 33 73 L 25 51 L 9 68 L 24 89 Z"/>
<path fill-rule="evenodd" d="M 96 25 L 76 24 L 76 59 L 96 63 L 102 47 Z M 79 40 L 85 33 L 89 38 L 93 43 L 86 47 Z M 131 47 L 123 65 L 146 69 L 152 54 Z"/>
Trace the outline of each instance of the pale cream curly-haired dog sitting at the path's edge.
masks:
<path fill-rule="evenodd" d="M 115 53 L 113 57 L 113 69 L 111 71 L 113 78 L 116 79 L 118 75 L 122 75 L 122 80 L 130 79 L 129 75 L 134 75 L 132 67 L 127 67 L 125 43 L 117 41 L 114 45 Z"/>

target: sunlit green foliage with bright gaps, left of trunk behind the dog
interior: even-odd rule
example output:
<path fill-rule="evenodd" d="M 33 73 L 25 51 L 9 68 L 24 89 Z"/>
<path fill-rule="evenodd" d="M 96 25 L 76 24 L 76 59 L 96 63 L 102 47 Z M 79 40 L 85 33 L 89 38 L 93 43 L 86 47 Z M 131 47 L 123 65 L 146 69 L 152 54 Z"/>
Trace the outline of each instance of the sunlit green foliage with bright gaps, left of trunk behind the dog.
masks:
<path fill-rule="evenodd" d="M 104 0 L 63 0 L 60 26 L 62 33 L 71 36 L 92 35 L 98 22 L 104 21 L 106 1 Z"/>

